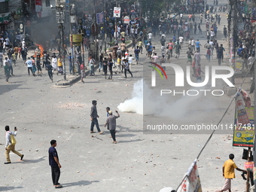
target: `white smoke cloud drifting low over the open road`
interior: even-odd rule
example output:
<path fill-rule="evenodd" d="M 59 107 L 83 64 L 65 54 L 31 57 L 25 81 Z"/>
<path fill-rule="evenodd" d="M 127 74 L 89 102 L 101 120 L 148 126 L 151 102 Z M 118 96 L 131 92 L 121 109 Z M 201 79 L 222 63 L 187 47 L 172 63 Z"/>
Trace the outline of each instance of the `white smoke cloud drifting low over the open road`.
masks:
<path fill-rule="evenodd" d="M 143 90 L 144 89 L 144 90 Z M 203 87 L 200 87 L 203 89 Z M 193 88 L 197 90 L 197 88 Z M 143 96 L 143 92 L 145 96 Z M 137 81 L 133 85 L 132 99 L 120 103 L 117 108 L 123 112 L 133 112 L 144 115 L 154 115 L 157 117 L 170 117 L 172 119 L 184 118 L 185 120 L 197 119 L 195 111 L 207 111 L 215 108 L 212 97 L 203 96 L 203 92 L 199 91 L 198 96 L 181 96 L 177 99 L 176 96 L 160 96 L 156 94 L 150 86 L 144 84 L 143 79 Z M 144 101 L 143 101 L 144 99 Z M 143 108 L 143 102 L 147 105 Z M 207 105 L 207 108 L 205 106 Z"/>

